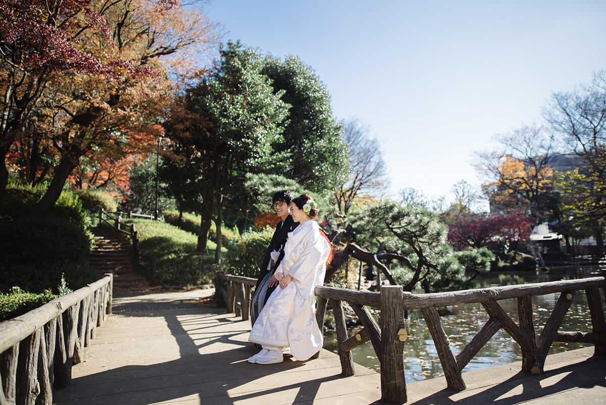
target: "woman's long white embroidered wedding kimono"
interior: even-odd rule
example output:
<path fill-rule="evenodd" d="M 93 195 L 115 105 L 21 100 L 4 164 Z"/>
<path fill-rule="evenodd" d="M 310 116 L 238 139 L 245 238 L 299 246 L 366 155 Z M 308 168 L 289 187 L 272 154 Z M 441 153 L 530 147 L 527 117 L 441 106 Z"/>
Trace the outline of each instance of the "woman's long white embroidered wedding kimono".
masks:
<path fill-rule="evenodd" d="M 284 259 L 276 273 L 293 279 L 276 288 L 259 313 L 248 340 L 264 346 L 288 347 L 296 360 L 307 360 L 322 348 L 324 338 L 315 316 L 314 292 L 324 284 L 330 244 L 316 221 L 288 233 Z"/>

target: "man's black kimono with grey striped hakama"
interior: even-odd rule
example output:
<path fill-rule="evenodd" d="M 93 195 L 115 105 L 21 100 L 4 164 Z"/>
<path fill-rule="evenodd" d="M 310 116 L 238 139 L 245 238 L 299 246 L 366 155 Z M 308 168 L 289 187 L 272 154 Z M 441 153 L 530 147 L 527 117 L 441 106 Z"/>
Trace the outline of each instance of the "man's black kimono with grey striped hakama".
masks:
<path fill-rule="evenodd" d="M 250 306 L 250 320 L 251 323 L 255 323 L 259 312 L 261 312 L 262 307 L 267 302 L 267 299 L 276 289 L 276 286 L 267 287 L 267 283 L 271 275 L 276 271 L 276 268 L 284 258 L 284 245 L 286 244 L 286 239 L 288 238 L 288 232 L 292 232 L 299 223 L 293 221 L 293 217 L 288 215 L 284 221 L 280 221 L 278 225 L 276 225 L 276 230 L 271 237 L 271 241 L 269 246 L 267 247 L 267 252 L 265 252 L 265 257 L 263 258 L 263 262 L 261 263 L 261 272 L 259 273 L 259 277 L 257 279 L 257 285 L 255 287 L 255 295 L 253 295 L 253 300 Z M 274 250 L 280 252 L 278 256 L 278 260 L 272 263 L 271 261 L 271 252 Z M 270 269 L 268 267 L 270 266 Z M 265 285 L 263 281 L 265 280 Z M 259 294 L 264 294 L 264 296 L 258 296 Z M 261 302 L 262 298 L 262 302 Z"/>

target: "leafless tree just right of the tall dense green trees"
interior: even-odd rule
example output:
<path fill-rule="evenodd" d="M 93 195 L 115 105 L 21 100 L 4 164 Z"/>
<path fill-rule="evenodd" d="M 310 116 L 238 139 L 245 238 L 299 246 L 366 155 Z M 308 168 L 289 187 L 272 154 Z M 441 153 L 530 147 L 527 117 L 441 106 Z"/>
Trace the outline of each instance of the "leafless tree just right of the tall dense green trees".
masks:
<path fill-rule="evenodd" d="M 369 133 L 370 129 L 357 120 L 345 122 L 343 140 L 349 152 L 348 178 L 333 193 L 333 201 L 343 215 L 347 215 L 361 193 L 380 197 L 389 186 L 379 141 L 370 138 Z"/>

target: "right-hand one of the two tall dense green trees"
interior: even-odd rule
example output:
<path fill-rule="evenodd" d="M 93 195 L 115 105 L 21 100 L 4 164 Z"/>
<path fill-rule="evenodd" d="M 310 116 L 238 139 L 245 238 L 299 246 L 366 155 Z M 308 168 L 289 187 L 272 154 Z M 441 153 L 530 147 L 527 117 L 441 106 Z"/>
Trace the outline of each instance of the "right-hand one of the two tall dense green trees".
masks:
<path fill-rule="evenodd" d="M 283 138 L 272 145 L 275 164 L 265 173 L 282 174 L 316 193 L 334 190 L 348 170 L 347 146 L 324 84 L 311 67 L 292 56 L 284 62 L 267 56 L 261 73 L 271 79 L 282 101 L 292 106 Z"/>

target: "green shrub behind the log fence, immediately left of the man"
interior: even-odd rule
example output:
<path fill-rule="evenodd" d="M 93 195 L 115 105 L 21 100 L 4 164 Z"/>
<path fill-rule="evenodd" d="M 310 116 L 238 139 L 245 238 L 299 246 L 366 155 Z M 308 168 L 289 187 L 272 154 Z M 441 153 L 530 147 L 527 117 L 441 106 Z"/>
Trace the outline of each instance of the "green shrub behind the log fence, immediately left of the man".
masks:
<path fill-rule="evenodd" d="M 227 244 L 227 264 L 225 272 L 233 275 L 256 277 L 265 256 L 274 230 L 265 227 L 260 232 L 248 230 L 239 239 L 231 239 Z"/>

